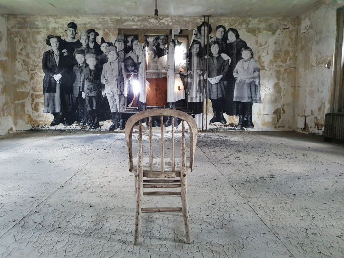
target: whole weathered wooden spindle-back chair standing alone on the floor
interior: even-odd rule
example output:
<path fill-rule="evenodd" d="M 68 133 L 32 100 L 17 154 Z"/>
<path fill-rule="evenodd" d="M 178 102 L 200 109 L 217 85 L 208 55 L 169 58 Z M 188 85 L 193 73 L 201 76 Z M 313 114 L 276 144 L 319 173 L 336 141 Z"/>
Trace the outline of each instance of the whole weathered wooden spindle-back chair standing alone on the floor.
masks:
<path fill-rule="evenodd" d="M 153 158 L 152 147 L 152 116 L 160 116 L 161 132 L 161 153 L 160 158 Z M 171 116 L 171 158 L 165 158 L 164 154 L 164 123 L 163 117 Z M 149 158 L 143 159 L 142 126 L 141 120 L 149 117 Z M 174 157 L 174 117 L 180 118 L 181 131 L 181 158 L 180 161 Z M 137 163 L 133 164 L 132 134 L 133 127 L 139 121 Z M 185 125 L 187 122 L 190 128 L 190 159 L 186 158 Z M 182 212 L 185 229 L 185 242 L 190 243 L 189 213 L 187 204 L 186 176 L 192 171 L 195 149 L 197 143 L 197 124 L 195 120 L 185 112 L 175 109 L 156 108 L 141 111 L 131 116 L 125 125 L 125 140 L 129 155 L 129 172 L 135 173 L 135 196 L 136 196 L 136 217 L 134 230 L 134 245 L 138 244 L 141 234 L 141 213 L 142 212 Z M 153 166 L 154 164 L 158 164 Z M 150 178 L 150 179 L 143 179 Z M 153 179 L 151 179 L 153 178 Z M 171 179 L 174 178 L 174 179 Z M 179 179 L 177 179 L 179 178 Z M 180 188 L 175 191 L 151 191 L 143 192 L 143 188 Z M 142 208 L 143 196 L 180 196 L 182 207 L 151 207 Z"/>

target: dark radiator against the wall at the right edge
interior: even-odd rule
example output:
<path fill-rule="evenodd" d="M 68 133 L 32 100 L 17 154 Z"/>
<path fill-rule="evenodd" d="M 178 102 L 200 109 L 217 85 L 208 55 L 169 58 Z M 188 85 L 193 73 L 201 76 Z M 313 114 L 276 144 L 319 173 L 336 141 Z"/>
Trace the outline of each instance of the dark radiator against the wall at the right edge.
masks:
<path fill-rule="evenodd" d="M 327 113 L 325 115 L 325 141 L 344 141 L 344 113 Z"/>

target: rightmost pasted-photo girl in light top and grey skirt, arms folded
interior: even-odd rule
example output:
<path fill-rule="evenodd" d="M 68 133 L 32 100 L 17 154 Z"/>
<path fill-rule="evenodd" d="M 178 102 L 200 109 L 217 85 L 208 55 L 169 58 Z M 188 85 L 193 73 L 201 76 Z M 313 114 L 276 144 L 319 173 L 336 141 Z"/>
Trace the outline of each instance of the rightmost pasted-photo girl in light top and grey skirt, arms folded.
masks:
<path fill-rule="evenodd" d="M 242 60 L 233 71 L 236 78 L 234 100 L 238 101 L 239 122 L 237 127 L 254 127 L 252 123 L 252 103 L 261 103 L 260 68 L 253 51 L 249 47 L 241 50 Z"/>

